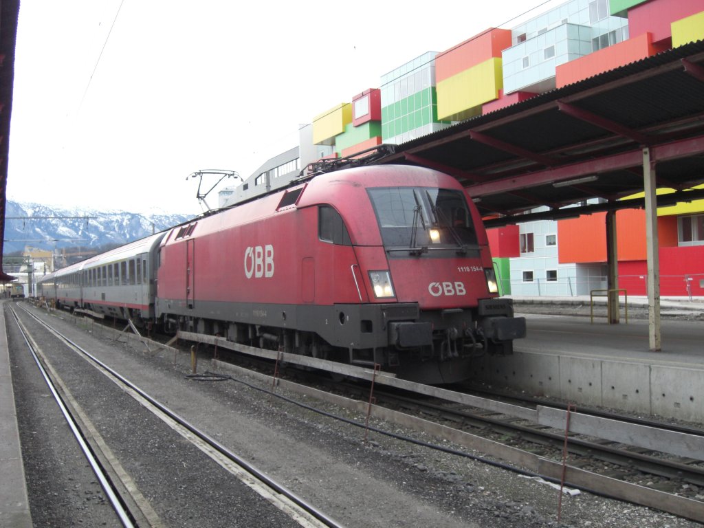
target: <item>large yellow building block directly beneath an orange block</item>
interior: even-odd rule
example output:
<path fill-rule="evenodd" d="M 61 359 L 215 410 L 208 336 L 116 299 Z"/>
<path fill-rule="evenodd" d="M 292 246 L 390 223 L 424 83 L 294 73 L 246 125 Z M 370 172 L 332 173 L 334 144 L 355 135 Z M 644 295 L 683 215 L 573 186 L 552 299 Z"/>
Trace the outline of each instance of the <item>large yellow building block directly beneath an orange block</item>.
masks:
<path fill-rule="evenodd" d="M 502 61 L 492 57 L 437 83 L 438 119 L 466 119 L 482 113 L 482 104 L 498 99 L 503 88 Z"/>

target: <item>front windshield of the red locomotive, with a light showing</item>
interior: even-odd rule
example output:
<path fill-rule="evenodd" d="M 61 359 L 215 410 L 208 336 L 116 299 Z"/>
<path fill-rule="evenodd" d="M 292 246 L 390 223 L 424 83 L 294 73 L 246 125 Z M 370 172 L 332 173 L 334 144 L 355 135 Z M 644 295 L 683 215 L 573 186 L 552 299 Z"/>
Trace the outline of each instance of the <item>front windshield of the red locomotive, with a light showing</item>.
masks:
<path fill-rule="evenodd" d="M 422 253 L 477 245 L 462 191 L 432 187 L 377 187 L 368 191 L 386 248 Z"/>

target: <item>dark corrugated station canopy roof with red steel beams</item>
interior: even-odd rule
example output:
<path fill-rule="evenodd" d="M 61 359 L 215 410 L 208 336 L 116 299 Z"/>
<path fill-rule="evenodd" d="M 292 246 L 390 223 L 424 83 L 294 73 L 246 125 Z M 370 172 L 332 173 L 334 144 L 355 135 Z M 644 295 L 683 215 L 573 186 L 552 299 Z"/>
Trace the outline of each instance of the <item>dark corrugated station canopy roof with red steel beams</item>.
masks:
<path fill-rule="evenodd" d="M 554 89 L 394 147 L 377 163 L 442 170 L 487 227 L 643 207 L 649 149 L 658 206 L 704 198 L 704 42 Z M 691 190 L 687 190 L 691 189 Z M 588 199 L 598 204 L 584 206 Z M 579 204 L 579 209 L 565 206 Z M 546 206 L 539 214 L 527 214 Z"/>

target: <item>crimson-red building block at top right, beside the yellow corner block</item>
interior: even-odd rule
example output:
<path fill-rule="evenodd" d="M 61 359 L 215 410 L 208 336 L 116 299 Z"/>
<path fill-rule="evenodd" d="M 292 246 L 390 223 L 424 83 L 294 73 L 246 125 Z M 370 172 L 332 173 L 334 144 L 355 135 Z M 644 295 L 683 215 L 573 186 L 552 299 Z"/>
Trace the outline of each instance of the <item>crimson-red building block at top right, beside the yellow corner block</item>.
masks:
<path fill-rule="evenodd" d="M 704 11 L 704 0 L 651 0 L 628 10 L 628 30 L 631 38 L 650 33 L 652 42 L 670 47 L 672 29 L 670 24 Z"/>

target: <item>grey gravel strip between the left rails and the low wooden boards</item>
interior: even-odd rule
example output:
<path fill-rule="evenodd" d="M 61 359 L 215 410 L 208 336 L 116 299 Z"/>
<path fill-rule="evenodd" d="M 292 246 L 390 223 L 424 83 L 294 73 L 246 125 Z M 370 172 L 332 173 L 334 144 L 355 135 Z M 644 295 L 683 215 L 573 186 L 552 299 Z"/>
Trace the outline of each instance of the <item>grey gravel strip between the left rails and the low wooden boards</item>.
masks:
<path fill-rule="evenodd" d="M 588 493 L 563 496 L 558 523 L 558 491 L 546 484 L 381 434 L 370 433 L 365 443 L 357 427 L 237 382 L 191 381 L 186 378 L 187 354 L 174 358 L 172 353 L 147 352 L 139 344 L 115 343 L 102 332 L 89 334 L 66 322 L 62 326 L 101 358 L 119 365 L 142 389 L 348 527 L 700 526 Z M 206 368 L 201 364 L 199 370 Z M 358 422 L 365 419 L 315 401 L 306 403 Z M 380 429 L 433 441 L 372 422 Z"/>

